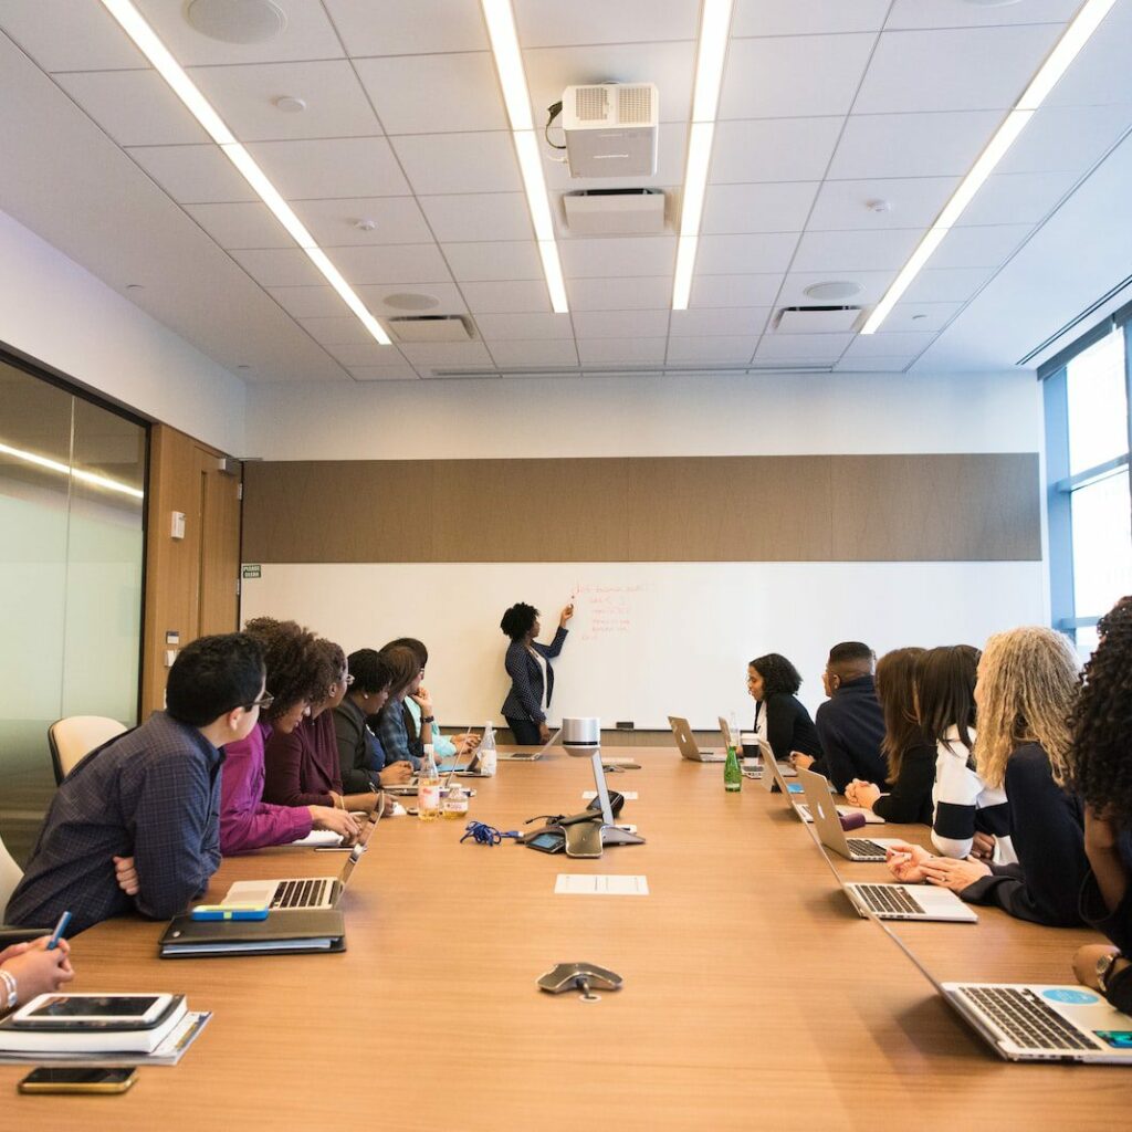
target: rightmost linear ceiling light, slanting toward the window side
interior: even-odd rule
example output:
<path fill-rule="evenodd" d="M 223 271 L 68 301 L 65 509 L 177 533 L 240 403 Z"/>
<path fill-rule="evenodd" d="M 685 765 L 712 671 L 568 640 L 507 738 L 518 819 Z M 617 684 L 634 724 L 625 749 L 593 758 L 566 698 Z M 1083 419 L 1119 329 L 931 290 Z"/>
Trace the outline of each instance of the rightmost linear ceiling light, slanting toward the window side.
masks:
<path fill-rule="evenodd" d="M 1057 85 L 1057 80 L 1069 69 L 1078 52 L 1089 42 L 1089 37 L 1100 26 L 1100 22 L 1108 15 L 1108 10 L 1115 2 L 1116 0 L 1086 0 L 1078 10 L 1077 16 L 1062 33 L 1056 46 L 1049 52 L 1045 62 L 1030 80 L 1030 85 L 1022 92 L 1021 97 L 990 137 L 986 148 L 979 154 L 978 161 L 960 181 L 959 188 L 943 206 L 935 223 L 917 245 L 911 258 L 901 268 L 889 290 L 884 292 L 881 301 L 873 308 L 860 329 L 861 334 L 875 334 L 881 324 L 889 317 L 911 281 L 923 269 L 947 232 L 958 223 L 963 211 L 975 198 L 986 179 L 994 172 L 1006 151 L 1029 125 L 1034 112 Z"/>

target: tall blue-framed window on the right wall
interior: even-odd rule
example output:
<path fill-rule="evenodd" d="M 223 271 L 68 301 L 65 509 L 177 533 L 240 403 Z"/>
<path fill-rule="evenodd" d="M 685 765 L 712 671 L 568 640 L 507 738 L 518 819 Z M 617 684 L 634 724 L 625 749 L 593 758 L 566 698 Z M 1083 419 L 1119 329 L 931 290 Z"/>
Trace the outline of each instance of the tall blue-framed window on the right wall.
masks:
<path fill-rule="evenodd" d="M 1054 625 L 1072 634 L 1082 658 L 1096 648 L 1097 619 L 1132 593 L 1130 316 L 1120 311 L 1039 371 Z"/>

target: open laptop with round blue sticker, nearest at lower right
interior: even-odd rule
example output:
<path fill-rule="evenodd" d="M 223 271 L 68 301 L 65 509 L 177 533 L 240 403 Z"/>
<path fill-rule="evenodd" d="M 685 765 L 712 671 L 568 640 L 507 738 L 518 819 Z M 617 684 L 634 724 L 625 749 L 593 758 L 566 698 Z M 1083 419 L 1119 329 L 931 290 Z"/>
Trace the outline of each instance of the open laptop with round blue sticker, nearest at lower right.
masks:
<path fill-rule="evenodd" d="M 877 926 L 1006 1061 L 1132 1065 L 1132 1018 L 1096 990 L 1037 983 L 940 983 L 878 917 Z"/>

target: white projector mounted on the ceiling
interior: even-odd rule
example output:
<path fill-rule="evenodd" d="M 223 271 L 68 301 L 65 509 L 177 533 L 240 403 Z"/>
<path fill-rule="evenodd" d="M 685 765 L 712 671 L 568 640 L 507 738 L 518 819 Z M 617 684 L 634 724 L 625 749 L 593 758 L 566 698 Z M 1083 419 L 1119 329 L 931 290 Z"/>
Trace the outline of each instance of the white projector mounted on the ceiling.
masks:
<path fill-rule="evenodd" d="M 601 83 L 563 92 L 571 177 L 652 177 L 660 92 L 655 83 Z"/>

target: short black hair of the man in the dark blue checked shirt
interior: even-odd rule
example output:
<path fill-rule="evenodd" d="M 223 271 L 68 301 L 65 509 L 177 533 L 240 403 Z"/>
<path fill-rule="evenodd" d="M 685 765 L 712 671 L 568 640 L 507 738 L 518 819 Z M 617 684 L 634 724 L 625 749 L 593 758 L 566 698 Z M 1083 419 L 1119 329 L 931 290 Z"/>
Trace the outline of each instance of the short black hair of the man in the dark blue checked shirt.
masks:
<path fill-rule="evenodd" d="M 207 727 L 233 707 L 254 703 L 264 672 L 264 650 L 247 633 L 197 637 L 169 670 L 165 709 L 181 723 Z"/>

